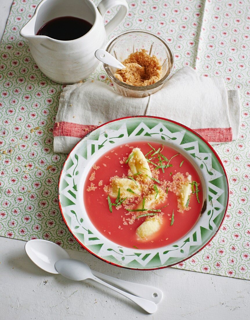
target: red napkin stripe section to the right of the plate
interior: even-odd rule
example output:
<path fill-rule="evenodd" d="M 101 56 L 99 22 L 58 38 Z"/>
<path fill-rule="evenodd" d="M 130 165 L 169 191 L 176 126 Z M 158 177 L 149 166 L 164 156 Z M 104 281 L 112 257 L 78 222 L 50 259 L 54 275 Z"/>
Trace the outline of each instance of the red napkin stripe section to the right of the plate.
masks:
<path fill-rule="evenodd" d="M 205 128 L 193 129 L 207 141 L 213 142 L 228 142 L 232 141 L 232 128 Z"/>

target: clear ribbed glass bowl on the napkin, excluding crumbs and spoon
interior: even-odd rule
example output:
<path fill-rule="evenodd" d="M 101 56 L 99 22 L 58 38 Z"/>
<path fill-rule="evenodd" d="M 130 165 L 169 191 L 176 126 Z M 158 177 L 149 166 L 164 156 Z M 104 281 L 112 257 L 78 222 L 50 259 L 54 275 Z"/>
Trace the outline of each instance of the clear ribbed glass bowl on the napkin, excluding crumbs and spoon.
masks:
<path fill-rule="evenodd" d="M 154 84 L 146 86 L 126 84 L 114 76 L 116 68 L 106 63 L 103 64 L 108 77 L 114 85 L 115 91 L 123 96 L 135 98 L 149 96 L 161 89 L 173 71 L 174 57 L 172 49 L 162 37 L 152 32 L 146 30 L 122 32 L 112 38 L 105 48 L 107 52 L 121 62 L 128 58 L 130 53 L 141 51 L 142 49 L 145 49 L 150 56 L 155 55 L 162 64 L 162 78 Z"/>

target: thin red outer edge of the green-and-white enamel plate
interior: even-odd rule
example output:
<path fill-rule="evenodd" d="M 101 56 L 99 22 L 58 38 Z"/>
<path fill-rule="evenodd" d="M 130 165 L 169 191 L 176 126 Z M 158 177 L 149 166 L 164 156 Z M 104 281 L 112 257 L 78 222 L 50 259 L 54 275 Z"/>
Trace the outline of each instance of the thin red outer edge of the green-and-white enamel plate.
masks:
<path fill-rule="evenodd" d="M 59 184 L 60 184 L 60 180 L 61 180 L 61 176 L 62 176 L 62 172 L 63 172 L 63 168 L 64 168 L 64 165 L 66 163 L 66 161 L 68 160 L 71 152 L 76 148 L 76 146 L 78 145 L 78 143 L 80 143 L 83 139 L 85 139 L 91 132 L 101 128 L 102 126 L 108 124 L 108 123 L 111 123 L 111 122 L 114 122 L 114 121 L 118 121 L 118 120 L 123 120 L 123 119 L 131 119 L 131 118 L 155 118 L 155 119 L 160 119 L 160 120 L 165 120 L 165 121 L 168 121 L 168 122 L 172 122 L 174 124 L 177 124 L 179 125 L 180 127 L 183 127 L 185 128 L 186 130 L 194 133 L 198 138 L 200 138 L 203 142 L 205 142 L 208 147 L 211 149 L 211 151 L 213 152 L 213 154 L 216 156 L 217 160 L 219 161 L 219 164 L 222 166 L 222 169 L 224 171 L 224 174 L 225 174 L 225 177 L 226 177 L 226 181 L 227 181 L 227 204 L 226 204 L 226 208 L 225 208 L 225 213 L 224 213 L 224 216 L 223 216 L 223 219 L 221 221 L 221 224 L 219 225 L 218 229 L 216 230 L 215 234 L 211 237 L 211 239 L 203 245 L 202 248 L 200 248 L 197 252 L 193 253 L 190 257 L 187 257 L 177 263 L 174 263 L 174 264 L 171 264 L 169 266 L 163 266 L 163 267 L 158 267 L 158 268 L 144 268 L 144 269 L 140 269 L 140 268 L 129 268 L 129 267 L 125 267 L 125 266 L 121 266 L 119 264 L 116 264 L 114 262 L 111 262 L 111 261 L 108 261 L 108 260 L 105 260 L 101 257 L 99 257 L 96 253 L 92 252 L 91 250 L 89 250 L 84 244 L 81 243 L 80 240 L 77 239 L 77 237 L 72 233 L 70 227 L 68 226 L 65 218 L 64 218 L 64 215 L 63 215 L 63 211 L 62 211 L 62 206 L 61 206 L 61 203 L 60 203 L 60 195 L 59 195 Z M 93 129 L 92 131 L 90 131 L 88 134 L 86 134 L 80 141 L 77 142 L 77 144 L 70 150 L 70 153 L 68 154 L 67 158 L 65 159 L 64 163 L 63 163 L 63 167 L 62 167 L 62 170 L 60 172 L 60 176 L 59 176 L 59 180 L 58 180 L 58 204 L 59 204 L 59 209 L 60 209 L 60 212 L 62 214 L 62 217 L 63 217 L 63 221 L 64 223 L 66 224 L 67 228 L 69 229 L 70 233 L 72 234 L 72 236 L 76 239 L 76 241 L 86 250 L 88 251 L 89 253 L 91 253 L 93 256 L 99 258 L 100 260 L 102 261 L 105 261 L 113 266 L 116 266 L 116 267 L 119 267 L 119 268 L 125 268 L 125 269 L 131 269 L 131 270 L 158 270 L 158 269 L 164 269 L 164 268 L 169 268 L 169 267 L 173 267 L 183 261 L 186 261 L 187 259 L 190 259 L 191 257 L 193 257 L 196 253 L 202 251 L 202 249 L 204 249 L 212 240 L 213 238 L 216 236 L 217 232 L 219 231 L 221 225 L 223 224 L 223 221 L 225 219 L 225 215 L 226 215 L 226 212 L 227 212 L 227 208 L 228 208 L 228 202 L 229 202 L 229 183 L 228 183 L 228 178 L 227 178 L 227 174 L 226 174 L 226 171 L 225 171 L 225 168 L 224 168 L 224 165 L 221 161 L 221 159 L 219 158 L 219 156 L 217 155 L 216 151 L 214 150 L 214 148 L 204 139 L 202 138 L 202 136 L 200 136 L 197 132 L 195 132 L 193 129 L 190 129 L 188 128 L 187 126 L 185 126 L 184 124 L 180 124 L 179 122 L 176 122 L 176 121 L 173 121 L 173 120 L 169 120 L 169 119 L 166 119 L 166 118 L 163 118 L 163 117 L 157 117 L 157 116 L 128 116 L 128 117 L 123 117 L 123 118 L 118 118 L 118 119 L 114 119 L 114 120 L 111 120 L 111 121 L 108 121 L 104 124 L 101 124 L 99 125 L 98 127 L 96 127 L 95 129 Z"/>

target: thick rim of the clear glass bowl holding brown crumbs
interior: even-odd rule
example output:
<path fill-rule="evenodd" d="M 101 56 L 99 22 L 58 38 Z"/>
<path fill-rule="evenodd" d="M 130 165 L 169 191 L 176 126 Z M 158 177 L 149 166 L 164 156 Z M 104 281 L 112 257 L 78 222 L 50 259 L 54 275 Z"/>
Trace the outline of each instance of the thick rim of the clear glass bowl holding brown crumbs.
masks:
<path fill-rule="evenodd" d="M 114 38 L 112 38 L 106 45 L 105 50 L 107 52 L 109 52 L 108 50 L 110 49 L 110 47 L 112 46 L 112 44 L 114 43 L 115 40 L 119 39 L 120 37 L 129 34 L 129 33 L 145 33 L 145 34 L 149 34 L 151 36 L 156 37 L 158 40 L 160 40 L 164 46 L 166 47 L 166 49 L 169 52 L 169 56 L 170 56 L 170 64 L 171 64 L 171 70 L 170 72 L 167 74 L 165 74 L 165 76 L 163 76 L 159 81 L 155 82 L 154 84 L 149 84 L 149 85 L 145 85 L 145 86 L 136 86 L 136 85 L 131 85 L 131 84 L 126 84 L 125 82 L 122 82 L 120 80 L 118 80 L 114 74 L 110 71 L 109 65 L 106 63 L 103 63 L 104 69 L 107 73 L 107 75 L 109 76 L 109 78 L 114 81 L 116 84 L 118 84 L 120 87 L 123 87 L 124 89 L 129 89 L 129 90 L 134 90 L 134 91 L 147 91 L 147 90 L 152 90 L 154 88 L 157 88 L 158 86 L 164 84 L 166 82 L 166 80 L 171 76 L 172 71 L 173 71 L 173 67 L 174 67 L 174 56 L 173 56 L 173 51 L 171 49 L 171 47 L 165 42 L 165 40 L 161 37 L 161 36 L 157 36 L 154 33 L 147 31 L 147 30 L 143 30 L 143 29 L 132 29 L 132 30 L 127 30 L 127 31 L 123 31 L 121 33 L 119 33 L 117 36 L 115 36 Z"/>

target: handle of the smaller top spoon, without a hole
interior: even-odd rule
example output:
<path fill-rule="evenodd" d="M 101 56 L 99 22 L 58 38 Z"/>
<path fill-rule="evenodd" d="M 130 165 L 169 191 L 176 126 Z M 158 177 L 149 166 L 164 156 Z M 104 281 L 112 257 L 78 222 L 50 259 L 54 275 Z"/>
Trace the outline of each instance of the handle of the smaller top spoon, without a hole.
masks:
<path fill-rule="evenodd" d="M 156 304 L 154 302 L 152 302 L 152 301 L 133 296 L 130 293 L 127 293 L 127 292 L 124 292 L 124 291 L 122 291 L 122 290 L 120 290 L 118 288 L 115 288 L 115 287 L 113 287 L 113 285 L 102 281 L 101 279 L 97 278 L 96 276 L 91 277 L 91 279 L 95 280 L 96 282 L 99 282 L 100 284 L 105 285 L 106 287 L 108 287 L 110 289 L 113 289 L 114 291 L 116 291 L 118 293 L 121 293 L 124 297 L 129 298 L 130 300 L 132 300 L 133 302 L 138 304 L 138 306 L 143 308 L 148 313 L 154 313 L 157 310 Z"/>

